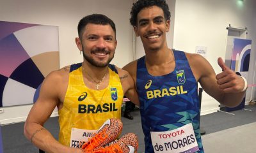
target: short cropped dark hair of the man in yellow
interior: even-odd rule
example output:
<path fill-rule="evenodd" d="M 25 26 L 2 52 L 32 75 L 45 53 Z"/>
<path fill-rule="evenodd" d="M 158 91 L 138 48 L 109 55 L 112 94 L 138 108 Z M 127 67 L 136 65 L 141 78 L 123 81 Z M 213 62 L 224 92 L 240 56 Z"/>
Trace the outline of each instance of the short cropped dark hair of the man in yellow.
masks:
<path fill-rule="evenodd" d="M 113 20 L 108 18 L 106 15 L 92 14 L 92 15 L 87 15 L 83 17 L 79 21 L 79 24 L 77 25 L 77 31 L 78 31 L 78 36 L 80 40 L 82 40 L 83 38 L 84 27 L 87 24 L 110 25 L 116 36 L 116 25 L 113 22 Z"/>

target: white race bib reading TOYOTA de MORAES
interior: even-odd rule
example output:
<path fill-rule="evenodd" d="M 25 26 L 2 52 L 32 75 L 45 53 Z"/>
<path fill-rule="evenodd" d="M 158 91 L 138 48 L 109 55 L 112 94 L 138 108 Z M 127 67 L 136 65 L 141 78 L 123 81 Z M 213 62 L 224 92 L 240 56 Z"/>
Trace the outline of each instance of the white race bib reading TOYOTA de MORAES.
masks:
<path fill-rule="evenodd" d="M 151 132 L 154 152 L 192 153 L 199 150 L 191 123 L 172 131 Z"/>

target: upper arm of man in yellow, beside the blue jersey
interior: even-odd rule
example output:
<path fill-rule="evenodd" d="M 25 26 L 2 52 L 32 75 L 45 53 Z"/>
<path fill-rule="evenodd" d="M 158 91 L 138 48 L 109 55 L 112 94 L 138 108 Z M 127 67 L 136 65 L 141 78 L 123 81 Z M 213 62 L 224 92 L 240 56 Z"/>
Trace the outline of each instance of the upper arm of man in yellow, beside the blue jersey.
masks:
<path fill-rule="evenodd" d="M 117 69 L 118 69 L 118 75 L 120 77 L 125 96 L 129 98 L 132 101 L 132 103 L 139 106 L 140 102 L 139 102 L 139 98 L 138 98 L 138 94 L 136 91 L 133 78 L 124 69 L 120 69 L 120 68 L 117 68 Z"/>

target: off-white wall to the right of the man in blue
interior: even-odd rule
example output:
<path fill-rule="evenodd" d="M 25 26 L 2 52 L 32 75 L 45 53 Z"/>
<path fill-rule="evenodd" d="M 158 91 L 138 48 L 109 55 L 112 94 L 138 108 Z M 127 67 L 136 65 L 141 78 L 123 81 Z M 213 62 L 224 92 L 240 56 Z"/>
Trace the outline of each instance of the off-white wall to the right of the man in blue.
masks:
<path fill-rule="evenodd" d="M 252 39 L 250 61 L 255 61 L 255 0 L 246 0 L 239 5 L 236 0 L 179 0 L 175 6 L 175 29 L 173 47 L 177 50 L 195 53 L 196 46 L 207 47 L 206 59 L 216 73 L 220 73 L 218 57 L 225 59 L 227 29 L 229 24 L 234 27 L 247 27 L 247 39 Z M 254 5 L 254 7 L 253 7 Z M 254 22 L 252 22 L 254 20 Z M 248 83 L 253 82 L 255 63 L 250 62 Z M 250 101 L 252 87 L 248 89 L 246 101 Z M 219 103 L 203 92 L 202 115 L 218 110 Z"/>

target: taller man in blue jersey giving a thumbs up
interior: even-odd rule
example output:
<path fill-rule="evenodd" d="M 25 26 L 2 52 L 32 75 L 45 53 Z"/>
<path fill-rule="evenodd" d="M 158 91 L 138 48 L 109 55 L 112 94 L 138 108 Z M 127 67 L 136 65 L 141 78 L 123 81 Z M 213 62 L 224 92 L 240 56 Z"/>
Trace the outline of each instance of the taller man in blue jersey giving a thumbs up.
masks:
<path fill-rule="evenodd" d="M 241 103 L 246 80 L 225 66 L 215 74 L 198 54 L 168 48 L 170 11 L 164 0 L 138 0 L 130 22 L 140 36 L 145 56 L 124 67 L 136 82 L 145 135 L 145 152 L 204 152 L 199 129 L 198 82 L 226 106 Z"/>

